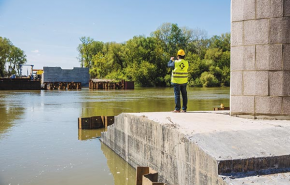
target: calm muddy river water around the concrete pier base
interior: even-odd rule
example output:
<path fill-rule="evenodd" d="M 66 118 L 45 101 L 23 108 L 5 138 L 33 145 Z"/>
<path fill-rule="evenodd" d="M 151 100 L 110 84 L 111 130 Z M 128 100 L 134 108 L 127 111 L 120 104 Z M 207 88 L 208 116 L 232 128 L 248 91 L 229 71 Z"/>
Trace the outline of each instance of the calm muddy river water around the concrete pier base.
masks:
<path fill-rule="evenodd" d="M 229 105 L 229 88 L 189 88 L 188 110 Z M 174 109 L 172 88 L 0 91 L 0 185 L 134 185 L 135 170 L 77 118 Z"/>

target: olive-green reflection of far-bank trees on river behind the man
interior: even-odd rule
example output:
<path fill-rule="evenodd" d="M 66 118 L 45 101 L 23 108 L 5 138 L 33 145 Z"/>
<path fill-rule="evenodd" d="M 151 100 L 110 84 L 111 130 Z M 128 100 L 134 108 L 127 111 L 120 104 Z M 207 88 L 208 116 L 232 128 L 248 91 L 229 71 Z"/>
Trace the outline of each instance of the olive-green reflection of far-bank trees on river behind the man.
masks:
<path fill-rule="evenodd" d="M 122 112 L 166 112 L 174 109 L 173 88 L 139 88 L 134 91 L 90 90 L 82 117 L 116 116 Z M 212 111 L 229 106 L 229 88 L 188 88 L 188 111 Z"/>

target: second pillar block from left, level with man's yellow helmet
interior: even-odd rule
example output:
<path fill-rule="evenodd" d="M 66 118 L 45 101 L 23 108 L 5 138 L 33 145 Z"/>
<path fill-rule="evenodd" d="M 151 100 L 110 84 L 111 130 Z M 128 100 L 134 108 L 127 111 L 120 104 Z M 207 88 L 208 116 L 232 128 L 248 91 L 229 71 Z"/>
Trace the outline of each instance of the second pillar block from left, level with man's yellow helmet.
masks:
<path fill-rule="evenodd" d="M 255 46 L 245 46 L 244 47 L 244 70 L 255 70 Z"/>

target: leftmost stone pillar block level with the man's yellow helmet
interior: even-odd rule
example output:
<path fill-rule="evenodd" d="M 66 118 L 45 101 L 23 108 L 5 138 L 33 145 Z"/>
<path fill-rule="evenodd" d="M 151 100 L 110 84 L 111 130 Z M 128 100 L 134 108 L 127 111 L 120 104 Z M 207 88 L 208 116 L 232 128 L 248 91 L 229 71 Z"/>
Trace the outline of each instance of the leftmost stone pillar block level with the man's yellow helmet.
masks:
<path fill-rule="evenodd" d="M 240 71 L 243 70 L 244 61 L 244 47 L 232 47 L 231 48 L 231 70 Z"/>

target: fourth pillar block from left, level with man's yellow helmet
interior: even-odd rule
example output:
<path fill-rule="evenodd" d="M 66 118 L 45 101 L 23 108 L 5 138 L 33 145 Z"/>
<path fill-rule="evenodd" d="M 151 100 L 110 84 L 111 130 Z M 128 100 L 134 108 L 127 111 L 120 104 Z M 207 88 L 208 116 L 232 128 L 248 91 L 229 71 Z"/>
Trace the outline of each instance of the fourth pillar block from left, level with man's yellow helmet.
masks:
<path fill-rule="evenodd" d="M 282 44 L 273 44 L 269 46 L 269 70 L 282 70 Z"/>

